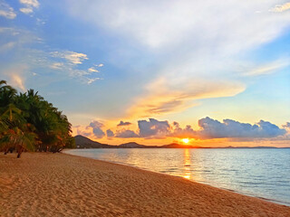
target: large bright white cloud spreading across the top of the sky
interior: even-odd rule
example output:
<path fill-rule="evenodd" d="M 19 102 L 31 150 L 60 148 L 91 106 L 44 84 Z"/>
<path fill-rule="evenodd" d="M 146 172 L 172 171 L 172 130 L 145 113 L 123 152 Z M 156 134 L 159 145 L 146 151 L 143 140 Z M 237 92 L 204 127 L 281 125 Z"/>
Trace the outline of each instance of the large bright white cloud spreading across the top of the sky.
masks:
<path fill-rule="evenodd" d="M 273 39 L 288 25 L 283 22 L 287 17 L 256 14 L 268 11 L 274 0 L 112 2 L 89 1 L 83 5 L 74 0 L 69 8 L 73 15 L 153 49 L 176 48 L 189 42 L 195 42 L 198 49 L 208 49 L 215 42 L 218 47 L 225 45 L 238 52 Z"/>

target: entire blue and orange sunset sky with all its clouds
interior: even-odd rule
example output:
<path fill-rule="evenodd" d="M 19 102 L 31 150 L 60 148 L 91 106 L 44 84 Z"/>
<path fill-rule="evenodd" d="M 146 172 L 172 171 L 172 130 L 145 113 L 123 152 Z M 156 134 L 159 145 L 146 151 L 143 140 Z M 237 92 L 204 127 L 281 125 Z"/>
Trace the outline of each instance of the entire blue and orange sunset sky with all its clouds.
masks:
<path fill-rule="evenodd" d="M 0 0 L 0 57 L 73 135 L 290 146 L 289 0 Z"/>

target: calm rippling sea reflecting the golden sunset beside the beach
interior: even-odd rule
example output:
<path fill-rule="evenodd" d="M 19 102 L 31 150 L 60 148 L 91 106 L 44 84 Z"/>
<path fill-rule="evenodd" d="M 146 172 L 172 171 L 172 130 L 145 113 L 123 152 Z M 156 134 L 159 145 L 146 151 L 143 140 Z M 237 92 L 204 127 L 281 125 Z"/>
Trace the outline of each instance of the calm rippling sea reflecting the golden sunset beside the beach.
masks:
<path fill-rule="evenodd" d="M 290 149 L 78 149 L 86 156 L 290 205 Z"/>

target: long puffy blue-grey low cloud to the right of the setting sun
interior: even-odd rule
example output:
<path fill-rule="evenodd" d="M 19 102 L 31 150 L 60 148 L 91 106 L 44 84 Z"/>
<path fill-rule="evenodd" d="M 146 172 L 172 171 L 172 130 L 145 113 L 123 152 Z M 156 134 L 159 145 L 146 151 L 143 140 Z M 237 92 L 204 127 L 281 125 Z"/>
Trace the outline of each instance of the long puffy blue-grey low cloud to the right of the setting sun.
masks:
<path fill-rule="evenodd" d="M 198 138 L 270 138 L 285 135 L 285 129 L 260 120 L 257 124 L 251 125 L 240 123 L 232 119 L 224 119 L 223 123 L 212 118 L 201 118 L 198 120 L 200 129 L 196 132 Z"/>

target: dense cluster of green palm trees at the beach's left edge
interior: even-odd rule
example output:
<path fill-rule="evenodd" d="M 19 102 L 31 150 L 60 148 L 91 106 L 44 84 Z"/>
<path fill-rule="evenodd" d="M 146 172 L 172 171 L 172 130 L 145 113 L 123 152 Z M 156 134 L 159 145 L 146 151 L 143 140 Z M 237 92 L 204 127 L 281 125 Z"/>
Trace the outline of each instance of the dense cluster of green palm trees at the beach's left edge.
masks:
<path fill-rule="evenodd" d="M 72 125 L 52 103 L 34 90 L 17 93 L 0 80 L 0 151 L 58 152 L 73 148 Z"/>

